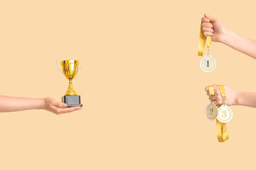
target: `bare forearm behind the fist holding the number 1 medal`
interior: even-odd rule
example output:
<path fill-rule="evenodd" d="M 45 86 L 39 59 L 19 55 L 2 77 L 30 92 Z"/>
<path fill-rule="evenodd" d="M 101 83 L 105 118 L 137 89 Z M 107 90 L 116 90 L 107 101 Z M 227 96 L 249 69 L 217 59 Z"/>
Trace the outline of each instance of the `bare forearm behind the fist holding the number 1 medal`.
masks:
<path fill-rule="evenodd" d="M 223 40 L 221 41 L 225 45 L 232 47 L 235 50 L 238 50 L 245 55 L 249 55 L 256 59 L 256 41 L 244 38 L 238 34 L 227 30 L 225 35 L 223 35 Z"/>

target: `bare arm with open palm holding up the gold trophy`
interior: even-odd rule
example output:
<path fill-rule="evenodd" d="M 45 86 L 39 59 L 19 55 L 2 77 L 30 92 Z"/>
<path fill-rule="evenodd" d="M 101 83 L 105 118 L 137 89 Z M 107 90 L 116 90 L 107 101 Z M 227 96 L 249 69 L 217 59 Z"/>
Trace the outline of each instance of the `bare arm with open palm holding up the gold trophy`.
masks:
<path fill-rule="evenodd" d="M 0 96 L 0 112 L 44 109 L 59 115 L 82 109 L 80 107 L 65 108 L 65 106 L 65 103 L 55 101 L 53 98 L 21 98 Z"/>

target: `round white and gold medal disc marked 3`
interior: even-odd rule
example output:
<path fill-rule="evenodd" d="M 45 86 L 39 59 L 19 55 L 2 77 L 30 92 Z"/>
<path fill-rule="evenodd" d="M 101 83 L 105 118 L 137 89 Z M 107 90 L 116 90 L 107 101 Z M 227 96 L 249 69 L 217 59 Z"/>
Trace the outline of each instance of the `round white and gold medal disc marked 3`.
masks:
<path fill-rule="evenodd" d="M 228 105 L 222 105 L 218 108 L 218 116 L 217 119 L 221 123 L 228 123 L 233 118 L 233 111 Z"/>

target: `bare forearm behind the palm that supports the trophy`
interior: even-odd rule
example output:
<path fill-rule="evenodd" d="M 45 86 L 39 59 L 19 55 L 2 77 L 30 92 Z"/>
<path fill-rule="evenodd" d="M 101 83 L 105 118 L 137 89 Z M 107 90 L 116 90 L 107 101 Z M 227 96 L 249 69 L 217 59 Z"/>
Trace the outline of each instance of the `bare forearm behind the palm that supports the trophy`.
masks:
<path fill-rule="evenodd" d="M 43 98 L 0 96 L 0 112 L 24 111 L 43 108 Z"/>

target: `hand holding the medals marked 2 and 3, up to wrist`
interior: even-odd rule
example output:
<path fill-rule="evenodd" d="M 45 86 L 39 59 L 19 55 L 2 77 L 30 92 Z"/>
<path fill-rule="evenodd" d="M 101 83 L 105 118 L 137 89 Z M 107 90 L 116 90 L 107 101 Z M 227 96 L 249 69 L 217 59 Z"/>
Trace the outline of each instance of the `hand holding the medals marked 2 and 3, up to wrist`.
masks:
<path fill-rule="evenodd" d="M 206 94 L 207 96 L 209 96 L 209 100 L 213 98 L 213 103 L 215 103 L 215 105 L 222 105 L 223 97 L 220 95 L 220 89 L 216 84 L 213 84 L 213 86 L 214 86 L 214 96 L 210 97 L 209 86 L 206 86 L 205 88 Z M 225 104 L 227 104 L 228 106 L 238 105 L 238 92 L 234 91 L 228 86 L 225 86 L 225 85 L 223 86 L 225 88 L 225 94 L 226 94 Z"/>

